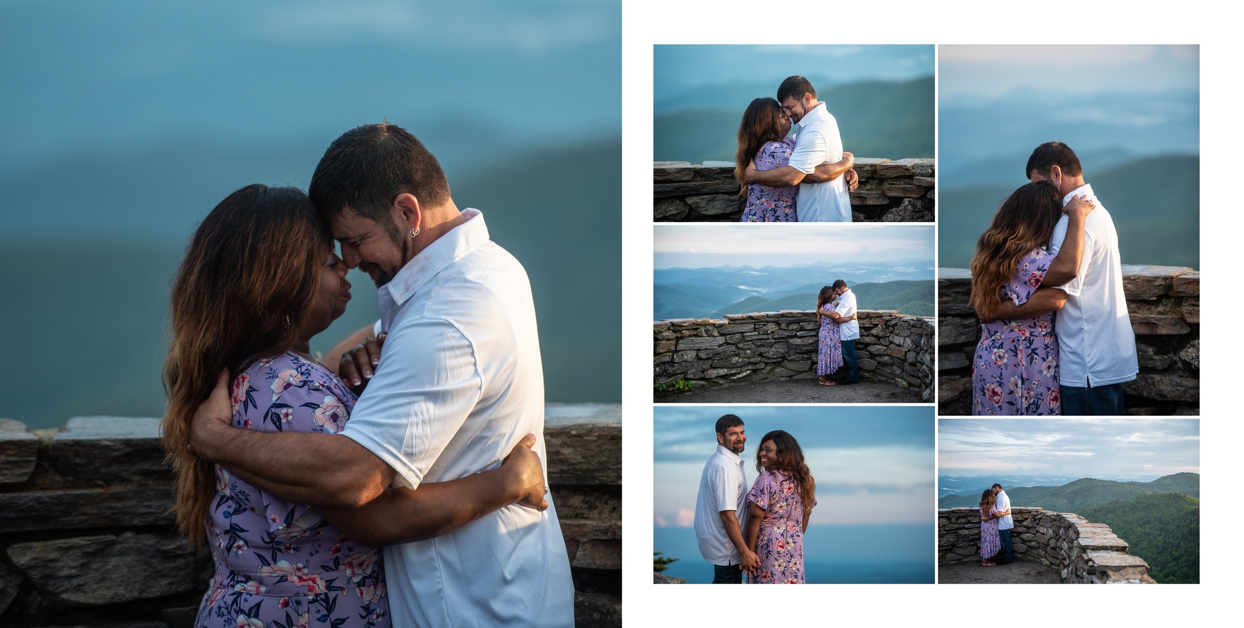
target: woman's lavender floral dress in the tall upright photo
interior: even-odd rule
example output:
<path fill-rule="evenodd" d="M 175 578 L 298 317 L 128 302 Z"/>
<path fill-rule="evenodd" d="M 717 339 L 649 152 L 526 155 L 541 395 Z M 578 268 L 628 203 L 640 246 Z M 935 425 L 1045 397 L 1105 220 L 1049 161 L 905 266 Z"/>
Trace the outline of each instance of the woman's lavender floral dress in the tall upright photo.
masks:
<path fill-rule="evenodd" d="M 1003 298 L 1024 305 L 1041 286 L 1052 261 L 1054 255 L 1045 249 L 1033 249 L 1020 260 L 1010 285 L 1001 289 Z M 1054 313 L 982 325 L 972 386 L 972 414 L 1062 414 Z"/>

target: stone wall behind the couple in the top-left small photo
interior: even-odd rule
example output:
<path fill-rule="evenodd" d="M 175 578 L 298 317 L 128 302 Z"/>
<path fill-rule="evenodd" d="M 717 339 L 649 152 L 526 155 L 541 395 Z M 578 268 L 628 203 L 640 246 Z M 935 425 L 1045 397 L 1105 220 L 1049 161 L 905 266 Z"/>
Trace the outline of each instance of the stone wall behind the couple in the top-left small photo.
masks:
<path fill-rule="evenodd" d="M 933 159 L 856 158 L 860 188 L 851 193 L 852 220 L 932 223 L 935 169 Z M 734 162 L 653 162 L 652 182 L 657 221 L 738 223 L 746 205 Z"/>

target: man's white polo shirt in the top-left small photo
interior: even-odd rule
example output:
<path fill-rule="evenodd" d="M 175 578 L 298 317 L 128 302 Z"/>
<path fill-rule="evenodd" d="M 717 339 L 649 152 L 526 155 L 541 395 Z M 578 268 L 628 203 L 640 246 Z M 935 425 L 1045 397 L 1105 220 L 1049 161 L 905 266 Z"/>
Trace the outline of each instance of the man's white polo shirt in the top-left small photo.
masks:
<path fill-rule="evenodd" d="M 787 164 L 804 174 L 842 159 L 838 121 L 817 103 L 795 124 L 795 152 Z M 850 223 L 851 194 L 846 175 L 825 183 L 800 183 L 795 213 L 800 223 Z"/>

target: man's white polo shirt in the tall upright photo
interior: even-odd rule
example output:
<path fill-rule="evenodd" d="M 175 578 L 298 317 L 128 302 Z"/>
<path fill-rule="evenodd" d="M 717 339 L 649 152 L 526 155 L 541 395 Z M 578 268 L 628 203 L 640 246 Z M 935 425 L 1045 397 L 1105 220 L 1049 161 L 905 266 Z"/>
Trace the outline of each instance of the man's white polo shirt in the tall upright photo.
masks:
<path fill-rule="evenodd" d="M 1081 185 L 1062 196 L 1066 205 L 1075 195 L 1087 195 L 1097 209 L 1085 219 L 1085 254 L 1076 279 L 1065 286 L 1067 302 L 1054 317 L 1059 336 L 1059 383 L 1062 386 L 1107 386 L 1136 379 L 1136 335 L 1127 316 L 1123 266 L 1118 234 L 1110 211 L 1092 188 Z M 1064 214 L 1050 236 L 1050 252 L 1057 255 L 1067 236 Z"/>

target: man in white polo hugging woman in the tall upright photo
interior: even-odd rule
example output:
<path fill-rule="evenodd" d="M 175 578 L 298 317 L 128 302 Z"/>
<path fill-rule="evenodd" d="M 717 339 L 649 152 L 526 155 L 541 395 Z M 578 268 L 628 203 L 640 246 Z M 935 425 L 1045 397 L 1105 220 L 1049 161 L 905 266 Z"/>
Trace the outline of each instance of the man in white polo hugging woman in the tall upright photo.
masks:
<path fill-rule="evenodd" d="M 1097 200 L 1092 187 L 1085 183 L 1080 158 L 1062 142 L 1036 147 L 1028 159 L 1025 173 L 1031 182 L 1054 184 L 1062 194 L 1064 205 L 1077 195 L 1087 196 L 1096 205 L 1085 219 L 1084 255 L 1079 269 L 1070 272 L 1066 284 L 1051 284 L 1067 293 L 1066 305 L 1054 321 L 1054 332 L 1059 337 L 1062 414 L 1125 414 L 1123 382 L 1136 379 L 1141 369 L 1136 357 L 1136 335 L 1127 316 L 1115 221 Z M 1054 228 L 1051 255 L 1057 255 L 1062 247 L 1067 220 L 1064 214 Z M 998 317 L 1021 320 L 1047 311 L 1037 300 L 1023 306 L 1004 302 Z"/>

